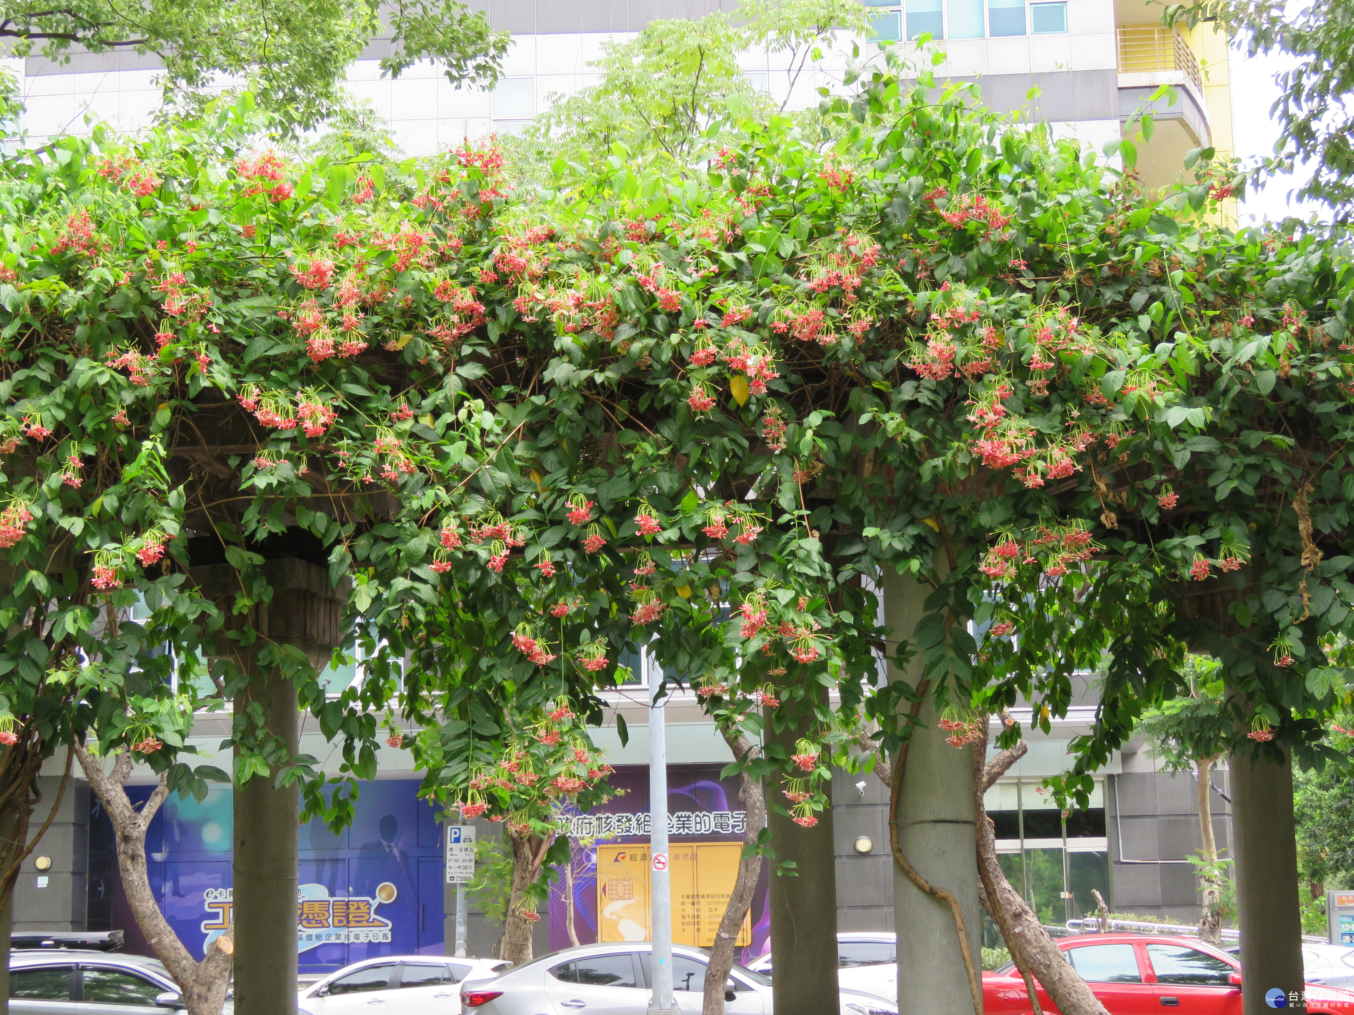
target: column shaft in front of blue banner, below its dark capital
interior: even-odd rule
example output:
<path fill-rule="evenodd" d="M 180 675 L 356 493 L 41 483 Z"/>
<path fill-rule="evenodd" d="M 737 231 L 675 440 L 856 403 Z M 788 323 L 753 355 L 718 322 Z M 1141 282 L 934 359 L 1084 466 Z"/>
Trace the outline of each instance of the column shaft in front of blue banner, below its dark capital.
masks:
<path fill-rule="evenodd" d="M 261 706 L 264 729 L 297 754 L 297 685 L 271 670 L 255 674 L 236 697 L 237 721 Z M 240 748 L 236 748 L 240 754 Z M 278 786 L 278 766 L 234 793 L 233 920 L 236 1010 L 250 1015 L 297 1014 L 298 785 Z"/>

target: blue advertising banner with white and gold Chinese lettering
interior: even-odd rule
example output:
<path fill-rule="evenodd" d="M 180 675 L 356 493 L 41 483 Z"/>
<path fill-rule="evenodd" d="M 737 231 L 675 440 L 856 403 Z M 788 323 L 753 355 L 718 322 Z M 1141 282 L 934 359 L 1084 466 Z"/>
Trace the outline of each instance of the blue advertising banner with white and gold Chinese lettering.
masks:
<path fill-rule="evenodd" d="M 417 780 L 364 782 L 351 827 L 334 835 L 321 821 L 301 828 L 297 943 L 301 972 L 332 972 L 378 955 L 443 954 L 441 827 L 417 797 Z M 133 803 L 150 786 L 129 786 Z M 97 803 L 91 840 L 107 824 Z M 179 938 L 202 958 L 229 926 L 232 793 L 211 790 L 200 804 L 171 796 L 146 835 L 150 885 Z M 91 863 L 97 880 L 97 859 Z M 137 930 L 116 877 L 111 928 L 126 931 L 129 951 L 152 954 Z M 92 885 L 95 892 L 99 886 Z"/>

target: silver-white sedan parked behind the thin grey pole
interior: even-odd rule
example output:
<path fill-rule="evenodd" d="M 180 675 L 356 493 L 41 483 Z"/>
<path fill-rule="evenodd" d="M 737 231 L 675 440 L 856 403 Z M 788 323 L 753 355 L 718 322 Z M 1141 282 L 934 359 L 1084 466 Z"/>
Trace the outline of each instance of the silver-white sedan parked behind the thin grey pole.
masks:
<path fill-rule="evenodd" d="M 489 983 L 463 984 L 460 1007 L 466 1015 L 646 1015 L 653 993 L 651 953 L 647 941 L 565 949 L 515 966 Z M 708 961 L 701 949 L 673 946 L 673 987 L 682 1012 L 700 1012 Z M 724 1012 L 772 1015 L 770 980 L 734 966 Z M 841 1015 L 898 1015 L 898 1008 L 883 997 L 842 991 Z"/>

